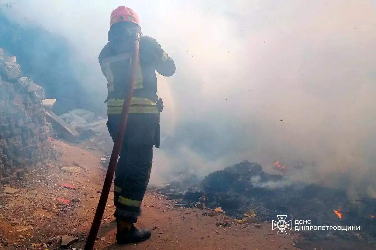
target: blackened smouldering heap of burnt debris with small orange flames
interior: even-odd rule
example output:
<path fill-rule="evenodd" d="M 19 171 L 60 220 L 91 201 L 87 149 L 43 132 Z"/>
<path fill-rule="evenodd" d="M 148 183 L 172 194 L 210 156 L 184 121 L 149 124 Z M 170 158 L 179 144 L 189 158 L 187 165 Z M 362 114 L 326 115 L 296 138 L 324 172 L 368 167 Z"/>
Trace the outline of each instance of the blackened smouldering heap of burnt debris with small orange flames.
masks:
<path fill-rule="evenodd" d="M 271 222 L 277 215 L 288 220 L 311 220 L 311 226 L 360 226 L 359 231 L 305 231 L 311 239 L 340 237 L 376 242 L 376 199 L 349 200 L 345 190 L 317 184 L 289 182 L 285 175 L 267 174 L 258 163 L 243 161 L 208 174 L 202 181 L 190 176 L 155 189 L 177 199 L 177 206 L 215 209 L 234 219 L 248 211 L 254 222 Z M 337 212 L 337 214 L 335 213 Z"/>

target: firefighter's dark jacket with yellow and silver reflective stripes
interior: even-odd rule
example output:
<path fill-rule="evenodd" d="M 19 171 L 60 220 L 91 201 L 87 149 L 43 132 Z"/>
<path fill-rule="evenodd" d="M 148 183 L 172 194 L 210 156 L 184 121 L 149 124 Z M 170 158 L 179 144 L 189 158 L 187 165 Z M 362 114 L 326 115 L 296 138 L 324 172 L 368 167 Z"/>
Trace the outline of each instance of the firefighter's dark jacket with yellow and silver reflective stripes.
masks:
<path fill-rule="evenodd" d="M 132 55 L 134 41 L 108 42 L 99 54 L 103 75 L 107 78 L 107 113 L 121 114 L 124 97 L 132 79 Z M 175 63 L 161 48 L 161 45 L 148 36 L 139 41 L 139 64 L 129 113 L 158 113 L 156 108 L 156 72 L 163 76 L 175 73 Z"/>

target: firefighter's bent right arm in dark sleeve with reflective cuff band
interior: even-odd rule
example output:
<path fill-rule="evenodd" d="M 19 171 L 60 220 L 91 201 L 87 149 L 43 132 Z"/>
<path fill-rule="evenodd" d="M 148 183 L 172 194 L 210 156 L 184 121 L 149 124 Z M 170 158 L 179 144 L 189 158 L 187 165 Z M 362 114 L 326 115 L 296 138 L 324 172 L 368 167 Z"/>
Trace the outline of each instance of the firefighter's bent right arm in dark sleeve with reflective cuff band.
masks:
<path fill-rule="evenodd" d="M 176 70 L 172 58 L 168 56 L 167 52 L 162 49 L 161 45 L 155 39 L 147 36 L 142 36 L 141 38 L 143 38 L 144 47 L 147 47 L 147 50 L 154 57 L 155 70 L 163 76 L 172 76 Z"/>

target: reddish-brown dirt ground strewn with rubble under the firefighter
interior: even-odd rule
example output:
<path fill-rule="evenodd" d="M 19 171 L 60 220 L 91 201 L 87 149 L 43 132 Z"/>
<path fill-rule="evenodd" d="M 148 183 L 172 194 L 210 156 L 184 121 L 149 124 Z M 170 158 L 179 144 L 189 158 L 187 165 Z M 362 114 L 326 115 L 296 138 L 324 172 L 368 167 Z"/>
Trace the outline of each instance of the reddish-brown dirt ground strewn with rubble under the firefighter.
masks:
<path fill-rule="evenodd" d="M 100 164 L 102 154 L 83 144 L 54 143 L 62 153 L 59 159 L 8 185 L 18 189 L 16 193 L 0 195 L 0 249 L 60 249 L 62 235 L 79 238 L 68 249 L 79 250 L 85 246 L 106 174 Z M 73 162 L 86 166 L 87 171 L 82 169 L 74 174 L 62 171 L 62 167 L 73 167 Z M 76 189 L 60 186 L 65 183 Z M 262 224 L 260 228 L 254 224 L 236 223 L 229 227 L 216 226 L 217 222 L 232 219 L 222 213 L 209 217 L 203 215 L 203 210 L 174 208 L 173 201 L 150 192 L 145 196 L 143 212 L 136 226 L 152 229 L 152 238 L 139 244 L 118 246 L 112 197 L 111 193 L 94 247 L 97 250 L 297 249 L 292 245 L 296 235 L 276 235 L 270 223 Z M 80 201 L 71 201 L 74 198 Z M 69 204 L 62 204 L 58 199 L 66 199 Z"/>

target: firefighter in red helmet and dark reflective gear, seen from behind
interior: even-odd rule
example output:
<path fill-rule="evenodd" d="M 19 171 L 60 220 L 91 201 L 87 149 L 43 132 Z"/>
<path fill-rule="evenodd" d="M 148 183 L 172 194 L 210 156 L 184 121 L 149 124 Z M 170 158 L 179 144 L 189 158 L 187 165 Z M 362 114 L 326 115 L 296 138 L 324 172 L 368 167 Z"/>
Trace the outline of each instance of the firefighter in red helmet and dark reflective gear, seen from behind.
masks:
<path fill-rule="evenodd" d="M 108 43 L 99 54 L 103 75 L 107 78 L 108 131 L 116 140 L 124 97 L 132 76 L 132 53 L 135 34 L 141 33 L 137 14 L 120 6 L 111 13 Z M 149 183 L 153 146 L 158 125 L 157 78 L 175 73 L 175 63 L 152 37 L 139 41 L 139 64 L 129 108 L 126 131 L 114 180 L 114 216 L 117 222 L 118 244 L 148 240 L 149 229 L 137 229 L 133 223 L 141 211 L 141 202 Z"/>

